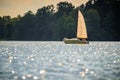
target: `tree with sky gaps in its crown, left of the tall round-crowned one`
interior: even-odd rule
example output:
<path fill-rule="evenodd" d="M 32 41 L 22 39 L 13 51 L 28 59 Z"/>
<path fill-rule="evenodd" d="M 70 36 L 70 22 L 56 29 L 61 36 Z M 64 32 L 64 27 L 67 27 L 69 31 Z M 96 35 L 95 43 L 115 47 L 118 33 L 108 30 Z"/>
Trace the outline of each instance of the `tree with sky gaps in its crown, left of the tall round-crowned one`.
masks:
<path fill-rule="evenodd" d="M 54 28 L 54 6 L 40 8 L 36 13 L 38 40 L 52 40 Z"/>

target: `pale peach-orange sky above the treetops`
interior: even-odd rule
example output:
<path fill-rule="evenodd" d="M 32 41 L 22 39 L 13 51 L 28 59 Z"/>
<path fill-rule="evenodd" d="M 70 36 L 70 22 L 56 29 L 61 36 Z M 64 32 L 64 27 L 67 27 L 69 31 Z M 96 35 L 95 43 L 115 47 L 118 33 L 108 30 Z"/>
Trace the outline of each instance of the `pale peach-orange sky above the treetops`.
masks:
<path fill-rule="evenodd" d="M 0 16 L 10 15 L 11 17 L 16 17 L 24 15 L 29 10 L 36 13 L 37 9 L 43 6 L 50 4 L 56 6 L 57 3 L 63 1 L 70 2 L 77 7 L 88 0 L 0 0 Z"/>

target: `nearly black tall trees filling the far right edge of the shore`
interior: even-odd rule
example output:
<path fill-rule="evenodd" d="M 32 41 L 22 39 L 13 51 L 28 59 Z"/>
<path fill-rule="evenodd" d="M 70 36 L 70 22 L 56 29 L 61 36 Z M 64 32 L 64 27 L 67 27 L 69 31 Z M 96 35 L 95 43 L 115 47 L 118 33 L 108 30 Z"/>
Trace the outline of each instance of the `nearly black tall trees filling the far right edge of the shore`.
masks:
<path fill-rule="evenodd" d="M 90 0 L 94 2 L 92 8 L 100 16 L 100 40 L 120 40 L 119 18 L 120 8 L 119 0 Z M 89 6 L 88 6 L 89 7 Z"/>

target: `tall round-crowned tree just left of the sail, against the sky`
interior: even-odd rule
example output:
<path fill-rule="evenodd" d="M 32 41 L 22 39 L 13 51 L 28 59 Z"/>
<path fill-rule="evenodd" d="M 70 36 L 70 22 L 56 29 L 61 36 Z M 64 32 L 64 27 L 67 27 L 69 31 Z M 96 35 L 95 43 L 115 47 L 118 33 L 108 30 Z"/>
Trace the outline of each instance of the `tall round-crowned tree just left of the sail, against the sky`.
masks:
<path fill-rule="evenodd" d="M 73 16 L 74 6 L 68 2 L 60 2 L 57 4 L 56 30 L 58 40 L 64 37 L 72 37 L 75 34 L 75 20 Z"/>

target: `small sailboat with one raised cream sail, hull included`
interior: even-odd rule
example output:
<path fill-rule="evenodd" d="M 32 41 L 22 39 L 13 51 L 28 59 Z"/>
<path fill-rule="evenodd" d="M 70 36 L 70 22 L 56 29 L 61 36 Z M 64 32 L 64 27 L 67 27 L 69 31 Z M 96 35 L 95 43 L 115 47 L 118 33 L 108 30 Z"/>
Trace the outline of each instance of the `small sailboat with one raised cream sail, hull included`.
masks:
<path fill-rule="evenodd" d="M 64 38 L 63 41 L 66 44 L 88 44 L 87 30 L 84 21 L 84 17 L 80 11 L 78 11 L 78 23 L 77 23 L 77 38 Z"/>

